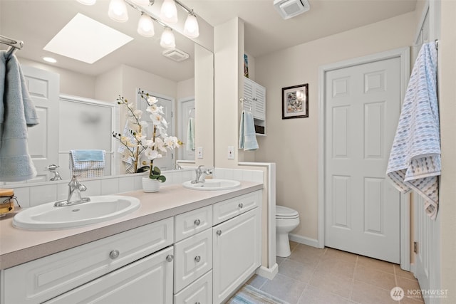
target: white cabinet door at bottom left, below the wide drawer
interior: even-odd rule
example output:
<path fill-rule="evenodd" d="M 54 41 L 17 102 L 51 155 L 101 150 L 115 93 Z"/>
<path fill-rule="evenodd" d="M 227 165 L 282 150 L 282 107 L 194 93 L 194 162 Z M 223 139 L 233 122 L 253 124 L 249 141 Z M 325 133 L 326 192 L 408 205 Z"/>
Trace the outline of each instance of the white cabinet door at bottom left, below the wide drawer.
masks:
<path fill-rule="evenodd" d="M 172 304 L 172 253 L 171 246 L 45 303 Z"/>

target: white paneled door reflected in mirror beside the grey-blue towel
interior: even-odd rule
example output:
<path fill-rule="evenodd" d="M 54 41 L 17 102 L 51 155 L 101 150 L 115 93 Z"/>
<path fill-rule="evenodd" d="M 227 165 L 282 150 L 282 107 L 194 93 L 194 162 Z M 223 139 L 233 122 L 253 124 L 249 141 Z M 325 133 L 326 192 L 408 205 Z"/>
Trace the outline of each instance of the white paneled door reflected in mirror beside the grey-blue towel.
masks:
<path fill-rule="evenodd" d="M 28 93 L 36 108 L 39 124 L 28 128 L 28 152 L 38 174 L 28 182 L 46 182 L 53 174 L 46 169 L 58 165 L 58 93 L 60 76 L 56 73 L 22 66 Z"/>

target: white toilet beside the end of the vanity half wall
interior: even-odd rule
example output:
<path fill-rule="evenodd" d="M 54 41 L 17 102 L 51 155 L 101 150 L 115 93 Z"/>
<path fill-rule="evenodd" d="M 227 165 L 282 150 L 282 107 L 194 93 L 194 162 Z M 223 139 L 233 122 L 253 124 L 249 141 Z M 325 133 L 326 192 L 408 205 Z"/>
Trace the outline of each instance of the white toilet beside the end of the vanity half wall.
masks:
<path fill-rule="evenodd" d="M 299 225 L 298 211 L 276 205 L 276 256 L 290 256 L 288 234 Z"/>

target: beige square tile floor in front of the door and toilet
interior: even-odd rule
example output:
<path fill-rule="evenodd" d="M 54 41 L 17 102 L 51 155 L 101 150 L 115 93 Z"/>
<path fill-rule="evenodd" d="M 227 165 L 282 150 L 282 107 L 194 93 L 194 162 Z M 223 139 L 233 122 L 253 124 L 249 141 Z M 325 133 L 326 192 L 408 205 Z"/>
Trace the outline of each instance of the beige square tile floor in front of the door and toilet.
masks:
<path fill-rule="evenodd" d="M 291 256 L 277 257 L 279 273 L 273 280 L 254 276 L 247 284 L 290 304 L 424 303 L 416 295 L 400 302 L 391 298 L 395 286 L 403 288 L 405 295 L 407 290 L 420 289 L 413 274 L 397 264 L 333 248 L 290 244 Z"/>

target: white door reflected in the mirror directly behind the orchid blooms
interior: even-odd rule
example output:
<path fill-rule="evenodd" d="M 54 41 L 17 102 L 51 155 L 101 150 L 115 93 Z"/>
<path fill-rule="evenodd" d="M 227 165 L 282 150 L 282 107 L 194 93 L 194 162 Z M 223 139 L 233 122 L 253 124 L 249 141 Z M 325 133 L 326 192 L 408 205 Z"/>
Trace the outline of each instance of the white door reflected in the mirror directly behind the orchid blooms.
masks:
<path fill-rule="evenodd" d="M 143 91 L 144 93 L 149 93 L 150 96 L 154 96 L 155 98 L 157 98 L 157 105 L 161 105 L 163 107 L 163 112 L 165 112 L 164 117 L 168 123 L 167 135 L 175 136 L 174 118 L 172 117 L 172 103 L 174 102 L 174 100 L 170 97 L 158 95 L 147 90 Z M 149 125 L 147 126 L 147 139 L 150 139 L 152 138 L 153 123 L 148 113 L 145 111 L 147 109 L 147 104 L 144 100 L 140 99 L 139 94 L 137 94 L 136 103 L 138 105 L 137 108 L 142 110 L 142 120 L 145 120 L 149 123 Z M 175 151 L 168 151 L 162 158 L 154 159 L 154 167 L 157 166 L 160 168 L 160 170 L 172 170 L 172 165 L 174 164 L 174 153 Z M 138 165 L 138 167 L 140 166 Z"/>

